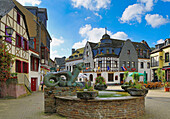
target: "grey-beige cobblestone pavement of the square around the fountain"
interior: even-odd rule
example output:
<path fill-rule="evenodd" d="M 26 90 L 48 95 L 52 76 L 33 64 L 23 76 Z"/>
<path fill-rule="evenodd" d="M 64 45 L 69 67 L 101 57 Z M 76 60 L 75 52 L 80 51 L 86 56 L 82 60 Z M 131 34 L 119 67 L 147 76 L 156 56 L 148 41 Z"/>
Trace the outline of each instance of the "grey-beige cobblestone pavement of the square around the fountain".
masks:
<path fill-rule="evenodd" d="M 120 89 L 119 86 L 109 89 Z M 0 119 L 65 119 L 56 114 L 44 114 L 43 92 L 19 99 L 0 99 Z M 149 90 L 145 115 L 138 119 L 170 119 L 170 92 Z"/>

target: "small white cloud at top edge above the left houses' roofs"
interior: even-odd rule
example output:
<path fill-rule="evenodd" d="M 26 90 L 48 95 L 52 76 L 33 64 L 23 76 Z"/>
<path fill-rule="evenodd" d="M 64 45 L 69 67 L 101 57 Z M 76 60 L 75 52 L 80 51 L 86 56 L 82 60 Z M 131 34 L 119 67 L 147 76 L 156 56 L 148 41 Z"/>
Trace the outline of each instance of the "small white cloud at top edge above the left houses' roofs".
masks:
<path fill-rule="evenodd" d="M 17 0 L 22 5 L 39 5 L 42 1 L 41 0 Z"/>

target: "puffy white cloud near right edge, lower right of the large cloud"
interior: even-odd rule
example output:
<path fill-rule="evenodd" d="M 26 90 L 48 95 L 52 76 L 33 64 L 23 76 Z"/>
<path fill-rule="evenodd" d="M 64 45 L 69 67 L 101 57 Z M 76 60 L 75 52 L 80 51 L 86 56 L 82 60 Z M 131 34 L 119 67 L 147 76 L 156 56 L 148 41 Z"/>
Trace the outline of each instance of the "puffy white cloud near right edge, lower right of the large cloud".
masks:
<path fill-rule="evenodd" d="M 170 20 L 168 19 L 168 16 L 167 18 L 163 18 L 163 16 L 159 14 L 153 14 L 153 15 L 147 14 L 145 16 L 145 20 L 147 21 L 147 24 L 151 25 L 153 28 L 159 27 L 161 25 L 164 25 L 170 22 Z"/>

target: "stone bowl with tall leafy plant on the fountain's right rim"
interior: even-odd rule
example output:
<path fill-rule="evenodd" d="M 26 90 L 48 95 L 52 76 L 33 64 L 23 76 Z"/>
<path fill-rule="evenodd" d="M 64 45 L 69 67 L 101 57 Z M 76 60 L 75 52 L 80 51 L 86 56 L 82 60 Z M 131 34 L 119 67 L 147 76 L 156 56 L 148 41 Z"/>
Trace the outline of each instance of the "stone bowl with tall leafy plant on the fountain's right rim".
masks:
<path fill-rule="evenodd" d="M 128 93 L 131 96 L 145 96 L 148 93 L 148 90 L 142 84 L 138 82 L 139 74 L 134 73 L 132 77 L 133 77 L 134 83 L 129 88 L 127 88 Z"/>

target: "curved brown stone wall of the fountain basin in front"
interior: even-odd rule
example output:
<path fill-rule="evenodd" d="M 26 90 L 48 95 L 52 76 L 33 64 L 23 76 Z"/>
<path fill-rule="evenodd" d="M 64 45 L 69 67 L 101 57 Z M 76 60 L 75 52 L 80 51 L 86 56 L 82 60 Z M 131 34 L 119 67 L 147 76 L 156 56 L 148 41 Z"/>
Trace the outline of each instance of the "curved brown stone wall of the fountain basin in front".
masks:
<path fill-rule="evenodd" d="M 58 96 L 56 113 L 73 119 L 134 119 L 144 114 L 144 103 L 144 97 L 85 101 Z"/>

